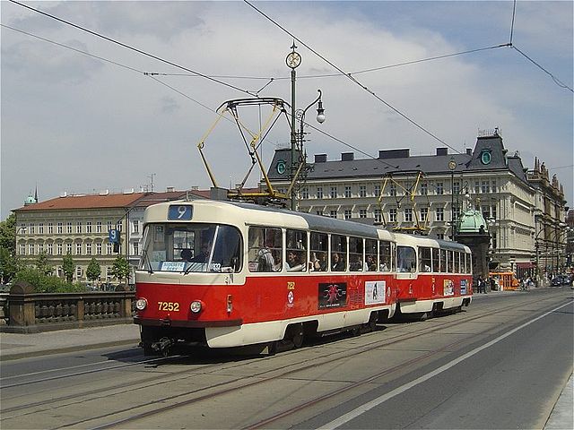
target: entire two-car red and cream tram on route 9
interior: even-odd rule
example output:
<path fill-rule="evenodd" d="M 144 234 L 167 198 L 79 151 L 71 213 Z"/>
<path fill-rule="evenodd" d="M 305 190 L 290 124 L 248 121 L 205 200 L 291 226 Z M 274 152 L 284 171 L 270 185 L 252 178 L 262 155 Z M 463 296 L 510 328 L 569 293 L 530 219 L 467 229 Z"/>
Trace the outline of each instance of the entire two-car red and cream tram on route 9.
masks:
<path fill-rule="evenodd" d="M 178 344 L 299 348 L 308 336 L 372 330 L 397 306 L 425 314 L 469 305 L 470 262 L 464 245 L 349 220 L 162 202 L 143 218 L 135 323 L 145 355 Z"/>

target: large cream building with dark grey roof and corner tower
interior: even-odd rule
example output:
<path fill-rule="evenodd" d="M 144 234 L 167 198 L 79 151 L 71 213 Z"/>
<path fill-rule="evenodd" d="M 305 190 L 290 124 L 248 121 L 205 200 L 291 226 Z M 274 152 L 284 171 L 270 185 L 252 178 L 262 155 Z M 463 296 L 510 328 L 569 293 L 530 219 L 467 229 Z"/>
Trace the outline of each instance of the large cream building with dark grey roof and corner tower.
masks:
<path fill-rule="evenodd" d="M 290 182 L 291 152 L 275 150 L 268 176 L 279 192 Z M 491 271 L 535 271 L 535 243 L 543 226 L 561 228 L 565 201 L 561 185 L 536 165 L 528 170 L 517 152 L 509 155 L 498 129 L 482 133 L 474 149 L 431 156 L 410 150 L 379 150 L 377 159 L 315 156 L 298 185 L 298 211 L 338 219 L 372 219 L 389 229 L 438 238 L 457 238 L 457 219 L 479 210 L 491 234 Z M 537 161 L 536 161 L 537 162 Z M 550 234 L 550 233 L 549 233 Z M 559 243 L 561 236 L 558 234 Z M 540 267 L 540 266 L 539 266 Z M 544 268 L 551 270 L 551 267 Z"/>

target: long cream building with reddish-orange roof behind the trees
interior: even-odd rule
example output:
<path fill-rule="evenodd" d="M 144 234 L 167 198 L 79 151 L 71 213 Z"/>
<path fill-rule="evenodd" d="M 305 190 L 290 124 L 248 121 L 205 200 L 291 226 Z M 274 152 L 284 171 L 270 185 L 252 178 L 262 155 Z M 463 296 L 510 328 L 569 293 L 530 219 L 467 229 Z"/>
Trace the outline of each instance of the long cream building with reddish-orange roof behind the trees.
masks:
<path fill-rule="evenodd" d="M 33 265 L 39 254 L 46 254 L 55 274 L 64 277 L 63 259 L 70 254 L 76 266 L 74 281 L 80 282 L 87 281 L 88 265 L 95 258 L 100 263 L 100 282 L 111 282 L 111 270 L 118 255 L 124 255 L 132 267 L 138 263 L 145 208 L 156 202 L 186 198 L 188 193 L 130 190 L 85 195 L 64 193 L 45 202 L 29 198 L 22 208 L 13 211 L 16 255 L 21 262 Z M 116 249 L 109 240 L 110 230 L 118 233 Z"/>

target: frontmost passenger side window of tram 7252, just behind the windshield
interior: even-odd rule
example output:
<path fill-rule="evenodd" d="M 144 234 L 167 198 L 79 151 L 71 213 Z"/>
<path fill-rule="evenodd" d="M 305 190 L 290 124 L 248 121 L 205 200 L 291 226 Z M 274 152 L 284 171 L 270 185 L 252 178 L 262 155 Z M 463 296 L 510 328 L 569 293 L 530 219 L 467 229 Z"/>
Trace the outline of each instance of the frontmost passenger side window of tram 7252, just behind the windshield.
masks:
<path fill-rule="evenodd" d="M 282 242 L 281 228 L 249 228 L 249 271 L 281 271 Z"/>

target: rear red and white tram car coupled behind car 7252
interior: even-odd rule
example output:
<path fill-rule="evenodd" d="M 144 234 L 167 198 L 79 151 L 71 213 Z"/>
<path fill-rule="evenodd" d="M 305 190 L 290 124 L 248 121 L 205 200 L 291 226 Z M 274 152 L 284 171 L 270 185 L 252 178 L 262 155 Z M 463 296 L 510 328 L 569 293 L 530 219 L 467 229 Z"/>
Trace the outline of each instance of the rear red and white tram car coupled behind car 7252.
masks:
<path fill-rule="evenodd" d="M 397 315 L 422 319 L 472 301 L 472 254 L 466 245 L 396 234 Z M 395 268 L 394 268 L 395 271 Z"/>

